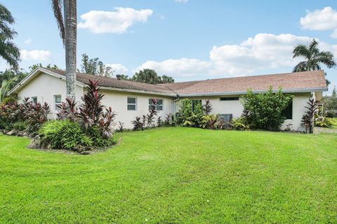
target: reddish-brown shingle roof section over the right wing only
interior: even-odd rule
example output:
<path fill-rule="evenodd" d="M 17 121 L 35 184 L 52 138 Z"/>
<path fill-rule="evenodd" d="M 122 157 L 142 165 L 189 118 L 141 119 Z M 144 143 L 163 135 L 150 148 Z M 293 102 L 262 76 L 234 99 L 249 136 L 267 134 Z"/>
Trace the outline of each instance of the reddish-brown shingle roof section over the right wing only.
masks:
<path fill-rule="evenodd" d="M 205 94 L 220 92 L 246 92 L 249 88 L 253 91 L 263 91 L 270 86 L 274 90 L 296 92 L 296 90 L 326 89 L 324 71 L 304 71 L 297 73 L 280 73 L 263 76 L 244 76 L 235 78 L 216 78 L 209 80 L 161 84 L 169 87 L 178 94 Z"/>

